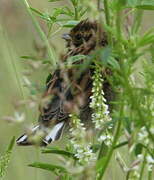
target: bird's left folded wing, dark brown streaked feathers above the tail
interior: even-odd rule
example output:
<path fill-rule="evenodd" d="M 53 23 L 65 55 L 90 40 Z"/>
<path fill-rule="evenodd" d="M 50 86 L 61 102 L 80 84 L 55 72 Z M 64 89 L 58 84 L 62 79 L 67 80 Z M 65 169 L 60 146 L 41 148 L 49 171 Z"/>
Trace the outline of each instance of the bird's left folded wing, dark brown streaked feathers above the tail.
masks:
<path fill-rule="evenodd" d="M 66 85 L 64 87 L 64 78 L 60 70 L 56 70 L 53 76 L 48 76 L 46 91 L 43 95 L 43 99 L 47 98 L 47 102 L 40 105 L 39 121 L 44 126 L 52 126 L 52 124 L 68 118 L 68 113 L 63 110 L 66 88 Z M 71 96 L 71 92 L 69 93 L 69 96 Z"/>

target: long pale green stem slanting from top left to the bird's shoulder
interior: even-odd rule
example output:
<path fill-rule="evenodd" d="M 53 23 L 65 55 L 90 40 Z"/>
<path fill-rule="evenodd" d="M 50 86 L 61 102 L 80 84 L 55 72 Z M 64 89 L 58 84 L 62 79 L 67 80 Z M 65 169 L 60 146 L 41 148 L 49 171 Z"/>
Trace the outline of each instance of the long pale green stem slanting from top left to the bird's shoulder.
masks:
<path fill-rule="evenodd" d="M 49 44 L 49 41 L 45 35 L 45 33 L 42 31 L 39 23 L 37 22 L 37 20 L 35 19 L 35 17 L 33 16 L 33 13 L 31 12 L 31 9 L 30 9 L 30 6 L 28 4 L 28 1 L 27 0 L 23 0 L 25 6 L 26 6 L 26 9 L 29 13 L 29 15 L 31 16 L 32 18 L 32 21 L 34 23 L 34 26 L 36 28 L 36 30 L 38 31 L 38 33 L 40 34 L 40 37 L 41 39 L 44 41 L 46 47 L 47 47 L 47 51 L 48 51 L 48 56 L 49 58 L 51 59 L 51 62 L 52 62 L 52 65 L 53 65 L 53 68 L 55 68 L 56 66 L 56 57 L 55 57 L 55 52 L 53 51 L 53 49 L 51 49 L 50 47 L 50 44 Z"/>

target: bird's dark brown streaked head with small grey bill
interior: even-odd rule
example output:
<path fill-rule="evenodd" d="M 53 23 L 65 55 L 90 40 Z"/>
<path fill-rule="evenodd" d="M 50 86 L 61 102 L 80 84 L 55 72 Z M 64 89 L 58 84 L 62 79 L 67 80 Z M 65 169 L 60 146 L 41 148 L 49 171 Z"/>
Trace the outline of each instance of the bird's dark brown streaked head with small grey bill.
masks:
<path fill-rule="evenodd" d="M 107 45 L 107 37 L 101 25 L 96 21 L 88 19 L 77 24 L 68 34 L 63 34 L 63 39 L 67 42 L 67 47 L 71 55 L 83 53 L 88 54 L 88 50 L 94 50 L 96 45 Z M 87 51 L 86 51 L 87 49 Z M 84 53 L 86 51 L 87 53 Z"/>

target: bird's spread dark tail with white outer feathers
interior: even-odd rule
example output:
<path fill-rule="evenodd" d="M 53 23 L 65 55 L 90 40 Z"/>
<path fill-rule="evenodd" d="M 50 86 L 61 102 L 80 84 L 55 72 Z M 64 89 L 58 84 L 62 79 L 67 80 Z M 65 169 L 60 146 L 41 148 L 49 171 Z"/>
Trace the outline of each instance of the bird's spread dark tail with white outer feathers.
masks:
<path fill-rule="evenodd" d="M 56 125 L 54 125 L 51 129 L 47 129 L 47 130 L 46 128 L 42 127 L 42 125 L 37 125 L 31 130 L 30 135 L 23 134 L 17 139 L 16 142 L 18 145 L 21 146 L 28 146 L 35 144 L 39 144 L 41 146 L 47 146 L 51 142 L 56 141 L 61 137 L 64 126 L 65 126 L 65 121 L 61 121 Z M 41 137 L 41 138 L 37 138 L 37 137 Z M 39 139 L 39 143 L 38 143 L 38 139 Z"/>

